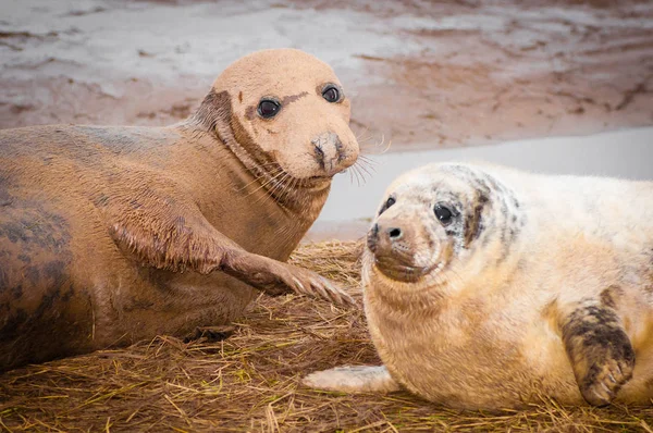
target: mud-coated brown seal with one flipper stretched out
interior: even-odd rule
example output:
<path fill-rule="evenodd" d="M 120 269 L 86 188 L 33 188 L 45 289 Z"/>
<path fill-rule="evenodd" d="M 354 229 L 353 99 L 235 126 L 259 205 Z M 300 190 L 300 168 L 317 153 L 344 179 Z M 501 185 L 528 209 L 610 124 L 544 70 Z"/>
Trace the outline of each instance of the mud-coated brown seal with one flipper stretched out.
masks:
<path fill-rule="evenodd" d="M 224 324 L 256 289 L 350 301 L 283 263 L 357 159 L 349 112 L 286 49 L 230 65 L 176 125 L 1 131 L 0 370 Z"/>

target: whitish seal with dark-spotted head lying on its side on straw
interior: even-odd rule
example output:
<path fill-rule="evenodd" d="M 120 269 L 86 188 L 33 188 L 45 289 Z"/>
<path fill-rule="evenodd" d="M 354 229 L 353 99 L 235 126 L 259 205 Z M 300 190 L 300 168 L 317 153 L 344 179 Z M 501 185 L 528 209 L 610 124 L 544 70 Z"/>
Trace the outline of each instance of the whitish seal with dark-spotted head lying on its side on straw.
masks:
<path fill-rule="evenodd" d="M 653 397 L 653 183 L 423 166 L 387 188 L 362 285 L 384 367 L 309 386 L 469 409 Z"/>

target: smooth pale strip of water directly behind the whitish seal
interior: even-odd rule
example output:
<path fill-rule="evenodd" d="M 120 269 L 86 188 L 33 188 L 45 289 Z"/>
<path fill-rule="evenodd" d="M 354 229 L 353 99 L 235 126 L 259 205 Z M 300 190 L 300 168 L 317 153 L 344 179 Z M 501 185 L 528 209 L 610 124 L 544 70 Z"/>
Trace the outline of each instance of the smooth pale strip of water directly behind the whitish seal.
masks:
<path fill-rule="evenodd" d="M 653 181 L 653 127 L 369 157 L 375 161 L 375 172 L 364 185 L 352 182 L 346 173 L 335 177 L 309 239 L 361 236 L 387 185 L 399 174 L 430 162 L 488 161 L 541 173 Z"/>

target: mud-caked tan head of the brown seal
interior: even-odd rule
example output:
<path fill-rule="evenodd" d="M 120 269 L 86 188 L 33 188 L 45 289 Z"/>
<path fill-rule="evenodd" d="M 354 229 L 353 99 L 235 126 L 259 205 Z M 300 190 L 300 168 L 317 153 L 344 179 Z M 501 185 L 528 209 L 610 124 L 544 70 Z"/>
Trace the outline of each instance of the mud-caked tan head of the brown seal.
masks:
<path fill-rule="evenodd" d="M 328 187 L 356 162 L 350 102 L 326 63 L 294 49 L 232 63 L 195 114 L 256 176 L 271 185 Z"/>

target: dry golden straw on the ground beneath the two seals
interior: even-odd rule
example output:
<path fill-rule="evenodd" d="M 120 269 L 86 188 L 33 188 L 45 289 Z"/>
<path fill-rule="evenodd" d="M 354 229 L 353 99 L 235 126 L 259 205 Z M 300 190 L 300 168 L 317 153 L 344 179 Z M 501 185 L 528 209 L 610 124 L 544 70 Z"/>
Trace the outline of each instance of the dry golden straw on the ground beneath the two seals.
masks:
<path fill-rule="evenodd" d="M 360 298 L 359 252 L 355 243 L 315 244 L 293 261 Z M 222 342 L 161 336 L 1 374 L 0 431 L 653 431 L 653 407 L 545 401 L 484 413 L 407 393 L 346 395 L 299 385 L 313 370 L 378 362 L 361 311 L 292 295 L 260 297 Z"/>

